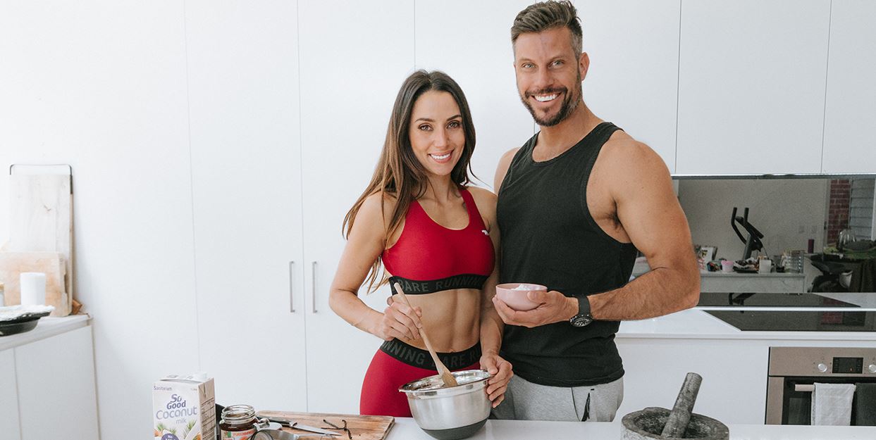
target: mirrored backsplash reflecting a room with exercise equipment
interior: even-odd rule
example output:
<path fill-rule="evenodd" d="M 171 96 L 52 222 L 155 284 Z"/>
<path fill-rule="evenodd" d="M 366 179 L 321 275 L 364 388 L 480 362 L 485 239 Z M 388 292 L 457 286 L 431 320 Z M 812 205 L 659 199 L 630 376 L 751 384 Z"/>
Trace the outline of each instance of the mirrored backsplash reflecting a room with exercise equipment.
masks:
<path fill-rule="evenodd" d="M 703 251 L 701 256 L 708 255 L 706 260 L 712 261 L 738 261 L 746 254 L 774 259 L 773 269 L 760 271 L 773 273 L 767 278 L 721 277 L 720 273 L 704 272 L 708 276 L 703 276 L 703 291 L 876 291 L 876 280 L 870 279 L 876 278 L 876 248 L 872 242 L 876 231 L 874 181 L 874 175 L 676 180 L 678 199 L 687 215 L 691 238 Z M 734 208 L 739 234 L 732 227 Z M 746 248 L 745 239 L 758 233 L 762 237 L 749 241 Z M 855 248 L 867 250 L 853 252 Z M 822 253 L 825 255 L 819 255 Z M 808 255 L 802 264 L 804 273 L 799 274 L 801 270 L 794 264 L 794 269 L 788 271 L 797 274 L 775 274 L 776 269 L 789 268 L 787 264 L 781 267 L 778 255 L 801 255 L 795 259 Z M 755 269 L 759 266 L 752 264 Z M 711 267 L 721 270 L 722 263 L 712 263 Z M 751 268 L 731 265 L 724 269 L 746 272 Z M 851 275 L 853 269 L 857 276 Z M 869 272 L 872 274 L 866 275 Z"/>

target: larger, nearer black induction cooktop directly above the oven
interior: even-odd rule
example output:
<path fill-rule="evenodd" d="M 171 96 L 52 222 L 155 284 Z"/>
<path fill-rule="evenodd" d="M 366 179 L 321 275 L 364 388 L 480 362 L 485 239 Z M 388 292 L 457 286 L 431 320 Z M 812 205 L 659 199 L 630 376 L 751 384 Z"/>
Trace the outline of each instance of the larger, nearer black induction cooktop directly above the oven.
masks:
<path fill-rule="evenodd" d="M 744 332 L 876 332 L 876 311 L 705 311 Z"/>

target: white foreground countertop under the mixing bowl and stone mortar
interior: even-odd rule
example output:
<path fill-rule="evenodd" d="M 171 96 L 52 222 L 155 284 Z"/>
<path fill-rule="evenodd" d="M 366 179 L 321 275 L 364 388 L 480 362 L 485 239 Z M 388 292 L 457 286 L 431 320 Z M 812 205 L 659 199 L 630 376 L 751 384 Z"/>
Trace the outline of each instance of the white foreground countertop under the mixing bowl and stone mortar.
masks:
<path fill-rule="evenodd" d="M 876 427 L 728 425 L 732 440 L 872 440 Z M 620 416 L 613 423 L 488 420 L 472 440 L 614 440 L 623 436 Z M 387 440 L 432 440 L 412 418 L 396 417 Z"/>

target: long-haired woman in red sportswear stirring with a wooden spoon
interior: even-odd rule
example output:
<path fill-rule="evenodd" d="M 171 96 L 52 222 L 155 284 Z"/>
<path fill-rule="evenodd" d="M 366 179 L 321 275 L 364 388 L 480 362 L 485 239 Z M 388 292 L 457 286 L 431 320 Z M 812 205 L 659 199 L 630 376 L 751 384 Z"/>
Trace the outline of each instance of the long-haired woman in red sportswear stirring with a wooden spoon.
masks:
<path fill-rule="evenodd" d="M 341 318 L 385 340 L 365 374 L 361 414 L 411 416 L 399 387 L 436 374 L 421 327 L 451 370 L 493 374 L 494 407 L 504 398 L 511 364 L 495 350 L 481 353 L 479 342 L 498 346 L 502 321 L 490 299 L 498 277 L 496 196 L 467 186 L 474 148 L 456 81 L 442 72 L 409 76 L 371 183 L 344 218 L 348 241 L 329 297 Z M 369 290 L 386 282 L 384 268 L 393 294 L 398 283 L 413 308 L 393 295 L 380 313 L 357 297 L 366 276 Z"/>

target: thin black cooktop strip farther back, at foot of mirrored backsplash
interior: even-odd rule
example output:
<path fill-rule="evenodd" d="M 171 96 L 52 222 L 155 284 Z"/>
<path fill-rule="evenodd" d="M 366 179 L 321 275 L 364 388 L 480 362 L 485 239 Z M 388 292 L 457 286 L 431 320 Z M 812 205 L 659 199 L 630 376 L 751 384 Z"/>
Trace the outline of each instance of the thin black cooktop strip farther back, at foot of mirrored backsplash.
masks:
<path fill-rule="evenodd" d="M 858 307 L 813 293 L 717 293 L 703 292 L 696 305 L 710 307 Z"/>

